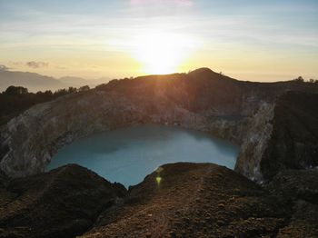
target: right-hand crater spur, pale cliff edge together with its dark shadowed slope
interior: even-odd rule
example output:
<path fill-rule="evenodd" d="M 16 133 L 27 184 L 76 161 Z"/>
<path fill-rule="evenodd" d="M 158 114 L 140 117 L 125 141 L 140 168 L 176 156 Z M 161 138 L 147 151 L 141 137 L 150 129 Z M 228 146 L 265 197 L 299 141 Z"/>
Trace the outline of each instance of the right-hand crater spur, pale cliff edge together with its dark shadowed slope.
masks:
<path fill-rule="evenodd" d="M 318 166 L 318 94 L 288 92 L 249 118 L 235 170 L 262 182 Z"/>

